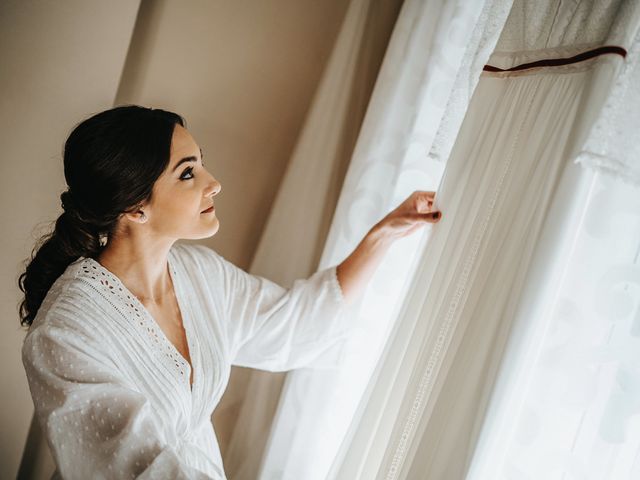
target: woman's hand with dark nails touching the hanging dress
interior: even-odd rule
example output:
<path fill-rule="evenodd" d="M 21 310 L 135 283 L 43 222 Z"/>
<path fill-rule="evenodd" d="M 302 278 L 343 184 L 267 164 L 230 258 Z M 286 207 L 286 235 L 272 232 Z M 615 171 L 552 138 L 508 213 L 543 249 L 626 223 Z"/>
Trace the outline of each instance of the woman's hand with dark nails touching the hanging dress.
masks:
<path fill-rule="evenodd" d="M 416 190 L 372 230 L 391 240 L 406 237 L 427 223 L 439 222 L 442 213 L 432 210 L 436 192 Z"/>

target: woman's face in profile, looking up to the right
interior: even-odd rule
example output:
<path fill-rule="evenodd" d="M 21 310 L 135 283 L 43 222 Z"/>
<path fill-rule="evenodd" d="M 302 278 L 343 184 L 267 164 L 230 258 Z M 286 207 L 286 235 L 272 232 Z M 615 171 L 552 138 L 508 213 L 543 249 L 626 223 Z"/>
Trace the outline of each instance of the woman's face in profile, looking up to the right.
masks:
<path fill-rule="evenodd" d="M 142 210 L 147 228 L 171 238 L 199 239 L 220 227 L 213 197 L 222 186 L 204 168 L 202 151 L 189 132 L 176 124 L 171 139 L 169 166 L 153 186 L 152 200 Z"/>

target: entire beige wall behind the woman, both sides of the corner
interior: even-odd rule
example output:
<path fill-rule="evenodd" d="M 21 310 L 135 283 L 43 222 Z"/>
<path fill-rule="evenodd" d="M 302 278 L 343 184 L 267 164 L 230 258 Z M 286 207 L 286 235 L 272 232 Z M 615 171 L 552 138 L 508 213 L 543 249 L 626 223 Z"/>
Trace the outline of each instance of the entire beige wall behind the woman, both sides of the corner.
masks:
<path fill-rule="evenodd" d="M 0 2 L 0 478 L 16 475 L 33 411 L 17 277 L 61 212 L 74 124 L 114 101 L 185 116 L 223 185 L 220 230 L 204 243 L 247 268 L 347 4 L 144 0 L 136 20 L 132 0 Z M 50 473 L 44 457 L 28 459 L 30 478 Z"/>

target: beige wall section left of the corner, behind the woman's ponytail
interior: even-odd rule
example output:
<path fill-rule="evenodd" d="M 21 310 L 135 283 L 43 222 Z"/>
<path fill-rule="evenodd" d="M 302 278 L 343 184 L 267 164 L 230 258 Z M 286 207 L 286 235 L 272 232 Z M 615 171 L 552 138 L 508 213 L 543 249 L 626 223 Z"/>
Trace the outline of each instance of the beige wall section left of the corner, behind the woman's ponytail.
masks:
<path fill-rule="evenodd" d="M 0 478 L 15 478 L 33 412 L 20 359 L 21 262 L 61 212 L 66 134 L 113 104 L 137 9 L 129 0 L 0 2 Z"/>

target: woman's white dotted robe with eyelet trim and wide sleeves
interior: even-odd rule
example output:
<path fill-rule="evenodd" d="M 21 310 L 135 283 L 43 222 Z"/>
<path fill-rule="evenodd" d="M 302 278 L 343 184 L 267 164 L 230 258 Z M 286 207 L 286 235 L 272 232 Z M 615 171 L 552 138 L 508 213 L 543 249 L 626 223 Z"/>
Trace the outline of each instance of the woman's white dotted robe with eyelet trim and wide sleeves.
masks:
<path fill-rule="evenodd" d="M 282 371 L 340 362 L 351 329 L 336 269 L 285 289 L 203 245 L 176 243 L 169 271 L 191 367 L 118 277 L 70 264 L 27 333 L 22 359 L 65 479 L 224 479 L 211 423 L 231 364 Z"/>

